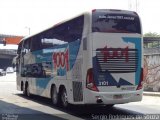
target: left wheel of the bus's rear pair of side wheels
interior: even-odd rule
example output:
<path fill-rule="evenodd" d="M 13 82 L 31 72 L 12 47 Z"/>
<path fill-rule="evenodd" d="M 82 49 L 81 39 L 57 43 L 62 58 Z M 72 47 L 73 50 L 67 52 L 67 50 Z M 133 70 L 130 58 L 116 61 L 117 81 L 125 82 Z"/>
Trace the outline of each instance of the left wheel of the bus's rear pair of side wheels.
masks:
<path fill-rule="evenodd" d="M 58 93 L 55 86 L 52 88 L 51 98 L 53 105 L 58 105 Z"/>

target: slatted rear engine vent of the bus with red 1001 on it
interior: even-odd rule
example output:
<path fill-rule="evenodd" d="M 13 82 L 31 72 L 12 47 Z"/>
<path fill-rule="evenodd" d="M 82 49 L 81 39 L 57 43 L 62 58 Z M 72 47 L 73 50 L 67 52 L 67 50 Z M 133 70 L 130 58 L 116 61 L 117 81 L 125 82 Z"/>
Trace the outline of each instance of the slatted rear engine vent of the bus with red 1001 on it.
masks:
<path fill-rule="evenodd" d="M 121 49 L 117 48 L 97 49 L 96 50 L 96 66 L 99 72 L 110 73 L 128 73 L 136 72 L 138 65 L 137 49 Z"/>

